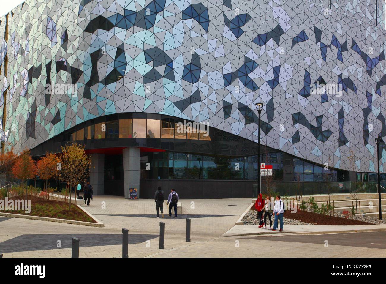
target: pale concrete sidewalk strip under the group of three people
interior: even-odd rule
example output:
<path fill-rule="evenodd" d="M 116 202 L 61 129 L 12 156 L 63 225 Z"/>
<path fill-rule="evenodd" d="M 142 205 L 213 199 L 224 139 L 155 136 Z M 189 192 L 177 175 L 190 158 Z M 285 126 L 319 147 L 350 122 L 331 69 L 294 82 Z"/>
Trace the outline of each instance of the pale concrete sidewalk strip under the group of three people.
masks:
<path fill-rule="evenodd" d="M 287 225 L 284 226 L 283 232 L 264 230 L 257 225 L 236 225 L 222 235 L 229 236 L 250 236 L 250 235 L 269 235 L 269 234 L 333 234 L 333 233 L 350 233 L 350 232 L 369 232 L 369 231 L 386 231 L 386 224 L 380 225 L 357 225 L 357 226 L 326 226 L 326 225 Z"/>

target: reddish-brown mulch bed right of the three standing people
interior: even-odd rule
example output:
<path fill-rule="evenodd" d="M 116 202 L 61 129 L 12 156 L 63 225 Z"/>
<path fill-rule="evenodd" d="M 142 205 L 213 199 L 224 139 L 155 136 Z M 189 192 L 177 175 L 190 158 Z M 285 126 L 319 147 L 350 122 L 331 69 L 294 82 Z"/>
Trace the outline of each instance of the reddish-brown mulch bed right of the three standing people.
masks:
<path fill-rule="evenodd" d="M 251 207 L 251 210 L 256 210 L 254 205 Z M 290 210 L 286 210 L 286 212 L 284 212 L 283 217 L 289 219 L 296 219 L 306 223 L 314 223 L 315 225 L 373 225 L 373 223 L 367 223 L 353 219 L 339 218 L 335 216 L 323 215 L 309 211 L 302 211 L 300 209 L 298 209 L 296 213 L 291 213 Z"/>

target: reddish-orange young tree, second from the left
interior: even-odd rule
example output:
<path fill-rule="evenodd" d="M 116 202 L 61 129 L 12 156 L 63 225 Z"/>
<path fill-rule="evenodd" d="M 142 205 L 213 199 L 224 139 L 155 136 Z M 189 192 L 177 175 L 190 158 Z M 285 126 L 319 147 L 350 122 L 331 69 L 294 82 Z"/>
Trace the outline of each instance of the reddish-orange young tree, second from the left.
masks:
<path fill-rule="evenodd" d="M 16 158 L 14 167 L 12 168 L 12 173 L 17 179 L 22 180 L 22 187 L 24 187 L 25 180 L 33 179 L 35 177 L 36 165 L 30 156 L 30 151 L 27 148 Z M 27 194 L 28 188 L 26 187 L 25 199 L 27 199 Z"/>

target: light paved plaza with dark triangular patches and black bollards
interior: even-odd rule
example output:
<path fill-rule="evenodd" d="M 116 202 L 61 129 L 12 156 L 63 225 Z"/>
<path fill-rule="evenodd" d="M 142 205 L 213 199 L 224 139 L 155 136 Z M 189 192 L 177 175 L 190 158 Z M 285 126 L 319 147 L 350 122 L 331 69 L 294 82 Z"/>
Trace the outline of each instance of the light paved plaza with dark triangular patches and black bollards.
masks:
<path fill-rule="evenodd" d="M 122 257 L 122 228 L 127 228 L 129 257 L 254 257 L 254 252 L 263 248 L 269 248 L 268 256 L 278 253 L 284 257 L 386 256 L 383 247 L 361 245 L 367 241 L 365 237 L 353 246 L 349 246 L 349 241 L 339 245 L 333 242 L 328 248 L 319 239 L 310 241 L 310 235 L 296 236 L 293 240 L 285 234 L 222 237 L 235 227 L 235 222 L 249 206 L 250 198 L 181 202 L 182 216 L 157 219 L 153 200 L 95 196 L 91 206 L 85 209 L 102 221 L 104 228 L 0 217 L 0 252 L 4 257 L 70 257 L 71 237 L 76 236 L 80 239 L 80 257 Z M 190 243 L 185 241 L 186 217 L 191 218 Z M 158 248 L 160 221 L 165 223 L 166 229 L 164 250 Z M 247 227 L 253 226 L 236 227 L 250 230 Z M 280 240 L 282 236 L 286 239 Z M 332 235 L 322 236 L 328 239 Z M 264 241 L 261 238 L 265 238 Z"/>

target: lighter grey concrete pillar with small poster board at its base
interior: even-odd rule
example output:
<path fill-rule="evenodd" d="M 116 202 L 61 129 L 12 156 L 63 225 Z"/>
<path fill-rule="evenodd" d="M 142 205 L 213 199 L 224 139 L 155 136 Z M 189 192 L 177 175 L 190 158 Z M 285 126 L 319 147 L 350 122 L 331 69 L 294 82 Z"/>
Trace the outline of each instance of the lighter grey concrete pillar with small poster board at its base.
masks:
<path fill-rule="evenodd" d="M 129 199 L 129 189 L 136 188 L 139 198 L 139 176 L 140 176 L 140 149 L 128 147 L 123 151 L 123 177 L 125 187 L 125 198 Z"/>

